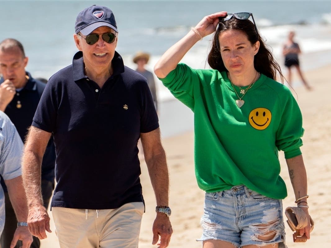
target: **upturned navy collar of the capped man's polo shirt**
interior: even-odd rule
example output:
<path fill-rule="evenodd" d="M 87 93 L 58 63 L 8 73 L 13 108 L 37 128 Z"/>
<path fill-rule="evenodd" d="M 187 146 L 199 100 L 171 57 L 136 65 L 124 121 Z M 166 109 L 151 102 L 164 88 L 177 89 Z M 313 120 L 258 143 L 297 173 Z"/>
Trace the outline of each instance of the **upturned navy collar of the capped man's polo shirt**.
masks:
<path fill-rule="evenodd" d="M 124 72 L 124 63 L 122 57 L 115 51 L 114 58 L 112 60 L 112 65 L 114 73 L 112 76 L 121 74 Z M 83 52 L 77 52 L 72 59 L 72 69 L 73 69 L 73 80 L 77 81 L 82 78 L 86 78 L 84 73 L 84 62 L 83 62 Z"/>

